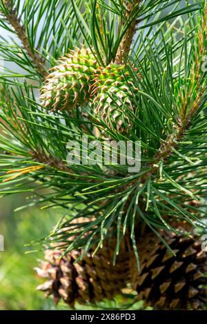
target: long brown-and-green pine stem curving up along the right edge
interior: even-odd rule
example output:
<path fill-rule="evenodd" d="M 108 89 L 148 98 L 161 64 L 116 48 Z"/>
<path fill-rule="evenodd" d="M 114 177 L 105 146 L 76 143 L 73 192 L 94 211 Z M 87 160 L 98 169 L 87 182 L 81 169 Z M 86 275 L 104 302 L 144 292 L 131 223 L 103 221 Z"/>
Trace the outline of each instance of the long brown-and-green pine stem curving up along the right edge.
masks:
<path fill-rule="evenodd" d="M 199 109 L 199 103 L 204 99 L 206 92 L 206 83 L 204 81 L 204 74 L 201 70 L 202 58 L 207 52 L 206 47 L 207 34 L 207 1 L 205 1 L 203 14 L 197 28 L 197 35 L 195 45 L 193 48 L 193 62 L 190 70 L 190 76 L 184 79 L 184 86 L 181 87 L 178 83 L 178 124 L 174 125 L 174 132 L 167 136 L 164 143 L 161 144 L 159 153 L 155 154 L 152 159 L 153 163 L 150 165 L 151 170 L 144 175 L 143 181 L 152 176 L 158 170 L 158 165 L 162 161 L 168 161 L 169 156 L 178 145 L 179 141 L 184 138 L 186 130 L 190 128 L 191 121 Z M 190 102 L 191 99 L 193 101 Z"/>

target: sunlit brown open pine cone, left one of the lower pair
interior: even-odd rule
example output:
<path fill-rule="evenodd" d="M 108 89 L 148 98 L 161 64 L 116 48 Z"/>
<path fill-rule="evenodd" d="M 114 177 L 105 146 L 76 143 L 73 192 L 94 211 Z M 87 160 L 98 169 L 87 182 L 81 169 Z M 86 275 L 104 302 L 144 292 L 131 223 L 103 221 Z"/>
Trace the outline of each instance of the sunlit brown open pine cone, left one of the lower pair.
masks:
<path fill-rule="evenodd" d="M 39 276 L 49 280 L 37 290 L 46 292 L 47 297 L 53 295 L 55 303 L 63 298 L 70 307 L 74 307 L 75 301 L 93 303 L 103 298 L 112 299 L 126 287 L 128 279 L 129 256 L 124 243 L 116 264 L 112 265 L 115 244 L 115 240 L 110 239 L 95 256 L 92 249 L 78 263 L 75 260 L 80 251 L 72 251 L 59 259 L 61 251 L 46 250 L 45 261 L 41 261 L 36 270 Z"/>

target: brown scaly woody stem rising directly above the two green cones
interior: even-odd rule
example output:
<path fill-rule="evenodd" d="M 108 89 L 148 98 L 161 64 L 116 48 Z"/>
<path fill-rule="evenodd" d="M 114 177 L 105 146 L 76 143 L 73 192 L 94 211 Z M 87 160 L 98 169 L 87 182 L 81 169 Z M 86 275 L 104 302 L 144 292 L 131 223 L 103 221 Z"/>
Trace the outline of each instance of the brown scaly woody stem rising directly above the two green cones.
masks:
<path fill-rule="evenodd" d="M 130 17 L 130 13 L 132 12 L 133 8 L 135 6 L 139 6 L 139 3 L 141 3 L 141 0 L 132 0 L 132 1 L 126 1 L 126 19 Z M 136 32 L 136 26 L 137 26 L 137 20 L 133 19 L 130 23 L 130 26 L 128 27 L 128 30 L 124 34 L 123 39 L 121 40 L 121 43 L 119 44 L 119 48 L 117 50 L 117 55 L 115 59 L 115 63 L 121 64 L 124 59 L 128 56 L 128 53 L 130 52 L 130 47 L 132 44 L 133 37 Z"/>

